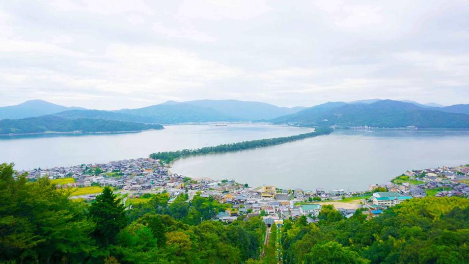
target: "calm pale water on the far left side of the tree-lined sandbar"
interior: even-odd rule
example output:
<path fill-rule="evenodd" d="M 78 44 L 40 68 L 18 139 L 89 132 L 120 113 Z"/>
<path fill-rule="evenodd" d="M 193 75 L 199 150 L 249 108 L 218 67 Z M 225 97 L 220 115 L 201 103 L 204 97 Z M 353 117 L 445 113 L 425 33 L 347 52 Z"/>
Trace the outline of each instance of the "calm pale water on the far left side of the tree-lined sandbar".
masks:
<path fill-rule="evenodd" d="M 163 130 L 107 135 L 0 137 L 0 163 L 15 168 L 51 168 L 148 157 L 152 152 L 200 148 L 244 140 L 291 136 L 311 131 L 262 124 L 169 125 Z"/>

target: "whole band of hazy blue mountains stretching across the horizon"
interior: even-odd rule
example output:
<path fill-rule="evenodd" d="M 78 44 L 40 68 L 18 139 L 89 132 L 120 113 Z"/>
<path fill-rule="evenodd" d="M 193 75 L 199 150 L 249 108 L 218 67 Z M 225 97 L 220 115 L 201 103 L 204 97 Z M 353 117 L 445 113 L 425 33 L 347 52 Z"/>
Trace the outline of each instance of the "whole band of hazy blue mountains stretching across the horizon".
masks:
<path fill-rule="evenodd" d="M 54 118 L 42 118 L 42 116 Z M 22 119 L 25 117 L 27 118 Z M 144 108 L 104 111 L 67 108 L 42 100 L 32 100 L 0 108 L 0 118 L 18 119 L 0 122 L 2 125 L 0 130 L 3 132 L 0 134 L 20 133 L 20 131 L 21 133 L 31 131 L 35 131 L 31 133 L 37 133 L 51 128 L 65 131 L 67 129 L 61 130 L 60 127 L 75 129 L 79 127 L 77 124 L 82 124 L 84 120 L 113 121 L 112 124 L 99 123 L 101 127 L 112 127 L 112 131 L 122 131 L 117 129 L 119 123 L 116 122 L 122 122 L 122 127 L 130 129 L 129 123 L 177 124 L 231 121 L 264 121 L 300 126 L 469 128 L 469 104 L 443 107 L 436 103 L 420 104 L 415 101 L 367 99 L 349 103 L 327 102 L 311 108 L 284 108 L 252 101 L 195 100 L 167 101 Z M 72 123 L 69 120 L 73 120 Z M 47 122 L 50 124 L 47 125 Z M 28 130 L 26 126 L 34 128 Z M 90 130 L 90 128 L 85 130 L 87 129 Z"/>

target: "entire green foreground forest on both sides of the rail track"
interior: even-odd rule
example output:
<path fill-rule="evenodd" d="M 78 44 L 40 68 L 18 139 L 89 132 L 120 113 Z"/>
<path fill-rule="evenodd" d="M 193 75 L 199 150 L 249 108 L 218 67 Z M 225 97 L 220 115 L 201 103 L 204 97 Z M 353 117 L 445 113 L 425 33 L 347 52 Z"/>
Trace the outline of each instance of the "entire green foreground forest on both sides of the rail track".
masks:
<path fill-rule="evenodd" d="M 323 205 L 319 223 L 285 220 L 263 248 L 260 217 L 212 221 L 230 205 L 211 197 L 168 203 L 163 192 L 126 209 L 109 188 L 76 201 L 47 178 L 13 175 L 0 165 L 0 263 L 469 263 L 461 197 L 411 199 L 370 220 Z"/>

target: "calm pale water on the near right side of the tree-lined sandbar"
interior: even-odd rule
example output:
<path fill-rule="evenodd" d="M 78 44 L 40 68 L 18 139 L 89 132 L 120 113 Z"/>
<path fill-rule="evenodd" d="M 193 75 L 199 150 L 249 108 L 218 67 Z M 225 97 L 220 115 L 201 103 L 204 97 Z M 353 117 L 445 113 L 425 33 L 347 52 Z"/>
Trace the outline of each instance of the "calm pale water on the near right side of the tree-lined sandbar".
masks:
<path fill-rule="evenodd" d="M 283 145 L 185 157 L 171 171 L 251 186 L 367 190 L 406 170 L 469 163 L 469 131 L 339 130 Z"/>

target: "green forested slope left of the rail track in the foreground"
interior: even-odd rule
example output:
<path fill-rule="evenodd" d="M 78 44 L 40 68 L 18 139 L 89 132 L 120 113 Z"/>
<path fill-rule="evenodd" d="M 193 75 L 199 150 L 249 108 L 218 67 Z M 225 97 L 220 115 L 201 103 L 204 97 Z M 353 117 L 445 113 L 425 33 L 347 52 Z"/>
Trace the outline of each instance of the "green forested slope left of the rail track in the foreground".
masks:
<path fill-rule="evenodd" d="M 211 198 L 180 195 L 168 205 L 163 193 L 126 211 L 109 188 L 92 203 L 69 195 L 0 165 L 0 262 L 242 263 L 262 246 L 260 218 L 211 221 L 224 208 Z"/>

